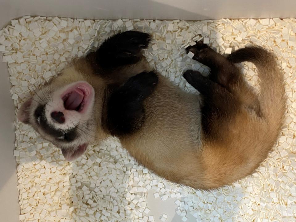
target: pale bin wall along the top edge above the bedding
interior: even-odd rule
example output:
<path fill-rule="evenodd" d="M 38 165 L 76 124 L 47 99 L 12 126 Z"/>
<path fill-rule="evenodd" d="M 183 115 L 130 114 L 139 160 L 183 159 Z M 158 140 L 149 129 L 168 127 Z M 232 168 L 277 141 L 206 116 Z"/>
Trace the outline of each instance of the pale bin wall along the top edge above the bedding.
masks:
<path fill-rule="evenodd" d="M 92 19 L 296 17 L 295 0 L 0 0 L 0 6 L 1 27 L 28 14 Z"/>

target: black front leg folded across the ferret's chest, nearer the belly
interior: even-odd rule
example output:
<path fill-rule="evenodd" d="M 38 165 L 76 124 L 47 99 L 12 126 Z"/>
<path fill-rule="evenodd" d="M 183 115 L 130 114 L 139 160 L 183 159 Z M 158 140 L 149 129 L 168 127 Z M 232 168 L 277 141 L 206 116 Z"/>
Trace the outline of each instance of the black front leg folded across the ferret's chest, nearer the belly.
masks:
<path fill-rule="evenodd" d="M 112 93 L 108 103 L 107 127 L 114 136 L 131 134 L 141 128 L 144 121 L 143 101 L 158 83 L 155 72 L 142 72 Z"/>

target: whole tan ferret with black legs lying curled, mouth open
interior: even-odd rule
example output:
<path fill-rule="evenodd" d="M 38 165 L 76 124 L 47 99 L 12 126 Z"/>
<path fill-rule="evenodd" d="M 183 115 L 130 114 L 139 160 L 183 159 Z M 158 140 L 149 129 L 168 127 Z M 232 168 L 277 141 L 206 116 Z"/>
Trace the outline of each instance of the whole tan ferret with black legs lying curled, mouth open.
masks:
<path fill-rule="evenodd" d="M 142 49 L 150 40 L 137 31 L 113 35 L 27 100 L 19 120 L 69 161 L 111 135 L 150 171 L 196 189 L 252 174 L 284 119 L 284 79 L 273 54 L 247 47 L 226 58 L 197 42 L 187 53 L 211 72 L 184 72 L 199 91 L 189 94 L 149 67 Z M 260 95 L 236 68 L 243 61 L 257 66 Z"/>

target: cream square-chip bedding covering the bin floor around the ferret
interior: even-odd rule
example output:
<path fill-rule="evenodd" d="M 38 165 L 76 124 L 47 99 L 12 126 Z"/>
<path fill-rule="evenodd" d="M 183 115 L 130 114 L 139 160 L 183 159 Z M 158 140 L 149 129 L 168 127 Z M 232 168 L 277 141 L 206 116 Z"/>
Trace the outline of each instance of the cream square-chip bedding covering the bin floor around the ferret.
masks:
<path fill-rule="evenodd" d="M 16 111 L 67 62 L 120 30 L 151 33 L 155 40 L 145 50 L 151 66 L 192 92 L 195 90 L 181 77 L 182 71 L 192 68 L 208 72 L 207 67 L 189 58 L 192 55 L 186 55 L 183 47 L 192 41 L 204 38 L 205 43 L 226 54 L 248 44 L 273 51 L 285 72 L 288 95 L 287 118 L 277 146 L 252 176 L 216 191 L 195 191 L 150 174 L 131 160 L 114 138 L 92 146 L 69 163 L 59 149 L 16 119 L 14 156 L 18 163 L 20 220 L 295 221 L 296 19 L 94 21 L 26 16 L 12 20 L 0 31 L 0 51 L 4 54 L 2 61 L 8 64 Z M 256 85 L 253 64 L 245 63 L 241 68 Z M 154 214 L 150 208 L 155 206 L 146 204 L 149 193 L 160 205 L 174 201 L 174 209 L 164 208 Z"/>

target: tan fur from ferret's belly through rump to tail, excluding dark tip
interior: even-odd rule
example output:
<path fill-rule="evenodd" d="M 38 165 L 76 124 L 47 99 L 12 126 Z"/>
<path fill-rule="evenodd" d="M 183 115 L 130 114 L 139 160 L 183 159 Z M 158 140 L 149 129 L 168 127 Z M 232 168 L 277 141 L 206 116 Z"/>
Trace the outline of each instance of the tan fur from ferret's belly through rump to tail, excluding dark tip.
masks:
<path fill-rule="evenodd" d="M 234 87 L 243 103 L 230 121 L 216 126 L 220 132 L 216 141 L 199 138 L 198 97 L 161 78 L 146 101 L 145 125 L 121 138 L 123 146 L 156 174 L 193 188 L 213 189 L 252 174 L 278 138 L 286 104 L 282 72 L 271 54 L 261 59 L 254 61 L 261 81 L 259 100 L 248 85 Z M 262 118 L 249 109 L 250 104 L 258 106 L 257 101 Z"/>

